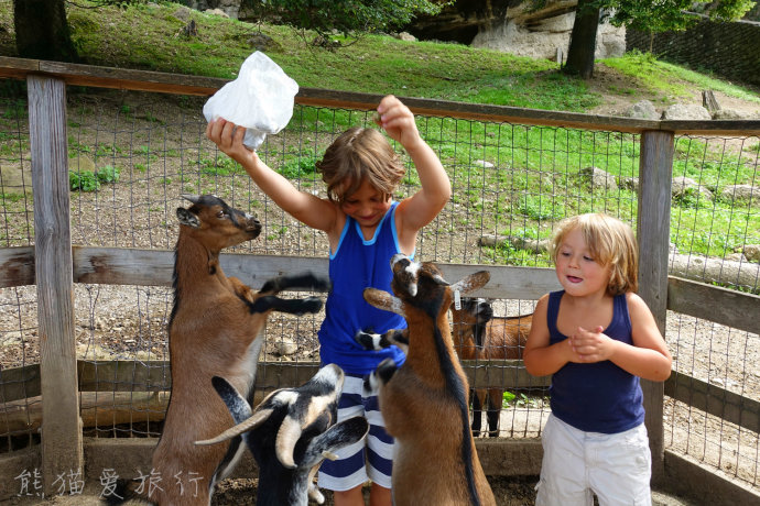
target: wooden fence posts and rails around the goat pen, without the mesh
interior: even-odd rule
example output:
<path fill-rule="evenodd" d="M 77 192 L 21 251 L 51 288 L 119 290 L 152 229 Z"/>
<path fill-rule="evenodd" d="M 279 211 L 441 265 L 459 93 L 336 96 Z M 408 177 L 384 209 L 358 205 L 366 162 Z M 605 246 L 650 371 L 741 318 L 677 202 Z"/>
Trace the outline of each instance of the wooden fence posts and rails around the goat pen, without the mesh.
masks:
<path fill-rule="evenodd" d="M 70 65 L 54 62 L 0 57 L 0 77 L 25 79 L 29 94 L 29 122 L 34 190 L 34 245 L 0 250 L 0 287 L 36 285 L 41 362 L 23 372 L 4 371 L 0 389 L 9 405 L 22 396 L 40 395 L 40 449 L 0 454 L 0 498 L 12 495 L 20 469 L 39 468 L 50 490 L 56 476 L 69 470 L 99 470 L 115 452 L 124 454 L 122 470 L 134 462 L 148 462 L 153 440 L 88 440 L 80 429 L 79 391 L 91 391 L 104 384 L 120 384 L 126 367 L 118 363 L 91 367 L 78 362 L 74 341 L 75 283 L 171 286 L 172 252 L 156 250 L 91 248 L 72 245 L 69 231 L 69 180 L 67 156 L 66 86 L 155 91 L 177 95 L 213 95 L 224 79 L 177 76 L 151 72 Z M 378 96 L 302 88 L 296 97 L 301 105 L 370 110 Z M 637 237 L 642 255 L 640 295 L 652 309 L 661 330 L 665 329 L 666 310 L 760 333 L 760 297 L 686 279 L 669 277 L 671 180 L 676 134 L 758 135 L 760 121 L 650 121 L 597 117 L 579 113 L 526 110 L 510 107 L 404 99 L 415 114 L 453 117 L 488 122 L 556 125 L 590 131 L 631 132 L 640 135 L 640 187 Z M 325 258 L 283 257 L 279 255 L 222 255 L 225 272 L 247 279 L 256 287 L 263 279 L 298 270 L 326 273 Z M 139 268 L 137 268 L 139 266 Z M 442 265 L 447 278 L 456 279 L 476 265 Z M 538 299 L 556 289 L 552 270 L 534 267 L 488 266 L 491 282 L 478 295 L 497 298 Z M 709 301 L 706 310 L 705 301 Z M 707 315 L 707 316 L 706 316 Z M 165 375 L 167 364 L 149 363 L 129 371 L 130 378 Z M 468 364 L 474 365 L 474 364 Z M 484 365 L 479 363 L 479 365 Z M 485 364 L 488 365 L 488 364 Z M 503 364 L 501 364 L 503 365 Z M 313 364 L 315 369 L 316 363 Z M 286 365 L 260 369 L 260 374 L 279 375 L 280 384 L 305 381 L 314 369 L 289 369 Z M 492 385 L 488 367 L 467 367 L 476 386 Z M 511 385 L 546 385 L 547 381 L 529 378 L 524 370 Z M 23 389 L 14 391 L 9 381 L 13 374 L 33 377 Z M 96 377 L 97 376 L 97 377 Z M 285 380 L 283 380 L 285 378 Z M 544 378 L 545 380 L 545 378 Z M 104 381 L 109 383 L 104 383 Z M 501 378 L 499 381 L 502 381 Z M 748 430 L 758 431 L 760 405 L 716 385 L 674 375 L 664 384 L 642 382 L 645 396 L 647 427 L 653 453 L 656 483 L 673 490 L 719 497 L 719 502 L 749 504 L 758 491 L 735 485 L 709 470 L 663 447 L 663 399 L 667 395 L 707 413 L 719 414 Z M 478 440 L 478 450 L 487 474 L 535 475 L 540 470 L 539 440 Z M 509 464 L 507 464 L 509 463 Z M 113 466 L 111 462 L 110 465 Z M 118 471 L 118 470 L 117 470 Z M 695 476 L 697 480 L 695 481 Z"/>

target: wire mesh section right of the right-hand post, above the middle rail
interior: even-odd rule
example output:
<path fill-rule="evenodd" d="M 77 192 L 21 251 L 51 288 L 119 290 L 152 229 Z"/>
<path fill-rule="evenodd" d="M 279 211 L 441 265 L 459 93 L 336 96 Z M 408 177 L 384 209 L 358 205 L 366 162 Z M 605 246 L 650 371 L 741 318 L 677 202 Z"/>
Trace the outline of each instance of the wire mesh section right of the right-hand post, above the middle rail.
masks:
<path fill-rule="evenodd" d="M 758 292 L 759 150 L 758 136 L 676 139 L 671 274 Z"/>

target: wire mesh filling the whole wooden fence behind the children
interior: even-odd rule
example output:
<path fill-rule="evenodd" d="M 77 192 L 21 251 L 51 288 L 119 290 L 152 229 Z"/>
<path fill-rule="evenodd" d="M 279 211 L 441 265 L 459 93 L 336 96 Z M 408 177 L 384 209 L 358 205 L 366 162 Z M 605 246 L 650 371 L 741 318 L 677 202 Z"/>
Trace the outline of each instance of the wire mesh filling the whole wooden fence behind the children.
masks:
<path fill-rule="evenodd" d="M 234 252 L 326 257 L 328 243 L 323 234 L 283 213 L 238 164 L 206 140 L 203 101 L 69 89 L 72 242 L 77 246 L 171 250 L 178 231 L 175 209 L 184 206 L 181 195 L 213 193 L 258 215 L 264 226 L 258 239 Z M 636 229 L 639 134 L 454 116 L 417 117 L 423 138 L 441 157 L 453 186 L 446 208 L 419 237 L 417 258 L 549 267 L 547 238 L 566 216 L 601 211 Z M 370 127 L 369 111 L 296 106 L 289 127 L 269 136 L 259 155 L 297 188 L 325 196 L 314 164 L 352 125 Z M 419 178 L 403 150 L 397 146 L 397 151 L 409 168 L 395 195 L 401 199 L 419 188 Z M 758 292 L 759 264 L 752 248 L 760 244 L 759 152 L 757 136 L 676 139 L 671 272 Z M 25 101 L 2 99 L 0 248 L 34 244 L 30 166 Z M 171 386 L 165 362 L 172 295 L 167 286 L 75 284 L 79 398 L 86 435 L 160 435 Z M 491 304 L 497 317 L 526 315 L 534 307 L 532 297 Z M 709 318 L 709 301 L 705 301 L 705 316 Z M 272 364 L 314 366 L 322 317 L 270 317 L 258 391 L 263 394 L 283 386 L 267 373 Z M 32 444 L 39 438 L 35 318 L 34 286 L 0 288 L 0 451 Z M 757 334 L 670 312 L 666 341 L 674 371 L 719 385 L 748 403 L 760 400 L 759 377 L 752 369 L 760 351 Z M 521 369 L 498 367 L 493 366 L 490 377 L 503 378 L 503 384 L 513 383 L 509 378 Z M 545 385 L 536 380 L 497 391 L 501 400 L 499 436 L 540 436 L 549 415 Z M 757 431 L 670 398 L 664 426 L 667 449 L 758 486 Z"/>

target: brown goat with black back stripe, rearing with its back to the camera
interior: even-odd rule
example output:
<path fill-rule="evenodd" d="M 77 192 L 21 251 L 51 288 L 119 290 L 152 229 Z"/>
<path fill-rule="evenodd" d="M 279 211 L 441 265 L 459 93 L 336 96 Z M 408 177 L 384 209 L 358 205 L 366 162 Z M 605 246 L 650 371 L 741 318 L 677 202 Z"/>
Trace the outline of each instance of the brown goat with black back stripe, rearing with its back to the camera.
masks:
<path fill-rule="evenodd" d="M 408 346 L 400 367 L 386 359 L 365 381 L 377 389 L 386 430 L 395 438 L 391 474 L 397 505 L 495 505 L 469 429 L 468 385 L 454 352 L 448 308 L 454 294 L 488 283 L 487 271 L 449 285 L 431 262 L 391 258 L 393 294 L 366 288 L 370 305 L 402 315 L 405 330 L 358 332 L 365 348 Z"/>

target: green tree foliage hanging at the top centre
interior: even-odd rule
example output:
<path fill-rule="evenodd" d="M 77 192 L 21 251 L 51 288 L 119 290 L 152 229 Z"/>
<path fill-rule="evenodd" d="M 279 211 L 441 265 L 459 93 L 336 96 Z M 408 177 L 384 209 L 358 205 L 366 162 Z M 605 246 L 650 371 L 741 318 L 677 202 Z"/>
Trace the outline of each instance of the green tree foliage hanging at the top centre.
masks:
<path fill-rule="evenodd" d="M 408 24 L 417 13 L 437 14 L 448 0 L 243 0 L 259 19 L 313 30 L 327 40 L 337 31 L 356 37 Z"/>

